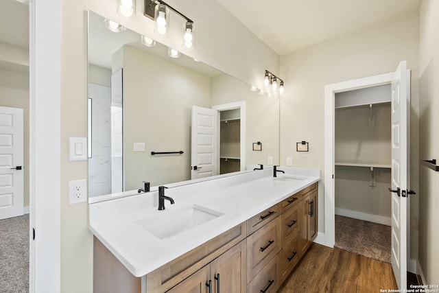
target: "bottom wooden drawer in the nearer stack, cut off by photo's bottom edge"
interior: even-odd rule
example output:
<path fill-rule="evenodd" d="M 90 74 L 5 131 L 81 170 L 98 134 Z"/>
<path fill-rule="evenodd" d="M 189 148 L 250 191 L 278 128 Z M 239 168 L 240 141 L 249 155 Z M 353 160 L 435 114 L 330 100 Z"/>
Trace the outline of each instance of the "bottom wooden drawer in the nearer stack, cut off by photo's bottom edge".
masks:
<path fill-rule="evenodd" d="M 276 292 L 281 285 L 279 256 L 276 255 L 247 285 L 247 292 Z"/>

